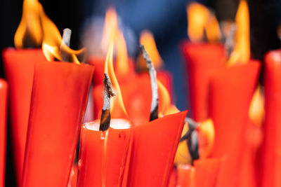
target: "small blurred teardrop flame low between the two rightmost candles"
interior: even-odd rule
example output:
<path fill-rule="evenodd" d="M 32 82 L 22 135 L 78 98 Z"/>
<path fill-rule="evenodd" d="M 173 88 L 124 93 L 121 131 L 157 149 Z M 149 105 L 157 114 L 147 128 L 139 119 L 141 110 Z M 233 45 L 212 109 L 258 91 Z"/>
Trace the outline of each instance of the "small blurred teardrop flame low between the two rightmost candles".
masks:
<path fill-rule="evenodd" d="M 261 94 L 261 87 L 259 86 L 256 88 L 254 95 L 251 99 L 251 104 L 249 107 L 249 118 L 251 119 L 254 124 L 261 127 L 263 124 L 263 119 L 265 116 L 265 109 L 264 109 L 264 98 Z"/>

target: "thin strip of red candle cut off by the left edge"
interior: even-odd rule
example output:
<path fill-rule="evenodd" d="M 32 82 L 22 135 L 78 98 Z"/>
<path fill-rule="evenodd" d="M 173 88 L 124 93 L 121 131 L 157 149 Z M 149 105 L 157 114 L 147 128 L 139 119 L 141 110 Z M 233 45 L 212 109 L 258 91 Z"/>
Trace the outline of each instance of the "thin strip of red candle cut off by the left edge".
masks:
<path fill-rule="evenodd" d="M 0 78 L 0 187 L 5 186 L 8 84 Z"/>

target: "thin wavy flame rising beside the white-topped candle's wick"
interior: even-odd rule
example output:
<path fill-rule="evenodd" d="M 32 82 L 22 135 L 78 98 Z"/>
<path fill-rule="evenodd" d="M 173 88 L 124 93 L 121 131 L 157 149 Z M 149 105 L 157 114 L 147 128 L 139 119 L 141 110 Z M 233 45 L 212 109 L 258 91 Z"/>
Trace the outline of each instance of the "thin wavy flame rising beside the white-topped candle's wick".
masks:
<path fill-rule="evenodd" d="M 112 97 L 111 100 L 114 100 L 114 105 L 112 105 L 112 117 L 113 118 L 128 118 L 128 114 L 126 112 L 122 92 L 119 87 L 119 83 L 115 76 L 115 71 L 113 68 L 113 47 L 114 44 L 110 43 L 110 48 L 108 49 L 106 60 L 105 60 L 105 74 L 110 76 L 110 81 L 112 83 L 112 88 L 116 91 L 116 96 Z"/>

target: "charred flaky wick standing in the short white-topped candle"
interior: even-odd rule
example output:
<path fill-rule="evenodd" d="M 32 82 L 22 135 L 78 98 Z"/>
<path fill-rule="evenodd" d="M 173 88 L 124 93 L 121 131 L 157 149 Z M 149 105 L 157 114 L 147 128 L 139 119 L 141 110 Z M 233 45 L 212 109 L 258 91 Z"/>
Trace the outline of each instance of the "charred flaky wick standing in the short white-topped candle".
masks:
<path fill-rule="evenodd" d="M 112 90 L 110 77 L 108 74 L 104 74 L 103 79 L 103 110 L 100 117 L 100 130 L 105 131 L 110 127 L 110 97 L 115 96 L 115 92 Z"/>

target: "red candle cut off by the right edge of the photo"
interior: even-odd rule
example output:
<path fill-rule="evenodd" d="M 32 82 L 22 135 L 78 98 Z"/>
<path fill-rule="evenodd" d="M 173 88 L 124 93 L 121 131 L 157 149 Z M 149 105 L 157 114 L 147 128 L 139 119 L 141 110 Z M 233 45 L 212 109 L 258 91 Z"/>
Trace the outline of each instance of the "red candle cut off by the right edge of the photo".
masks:
<path fill-rule="evenodd" d="M 281 50 L 265 56 L 266 118 L 261 160 L 261 186 L 281 186 Z"/>

